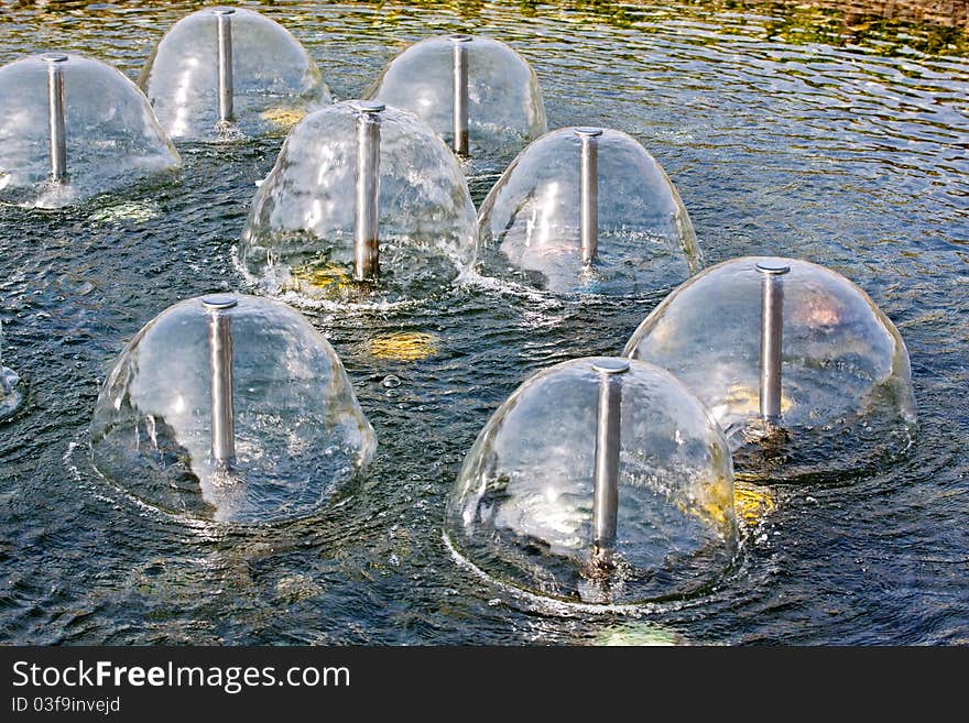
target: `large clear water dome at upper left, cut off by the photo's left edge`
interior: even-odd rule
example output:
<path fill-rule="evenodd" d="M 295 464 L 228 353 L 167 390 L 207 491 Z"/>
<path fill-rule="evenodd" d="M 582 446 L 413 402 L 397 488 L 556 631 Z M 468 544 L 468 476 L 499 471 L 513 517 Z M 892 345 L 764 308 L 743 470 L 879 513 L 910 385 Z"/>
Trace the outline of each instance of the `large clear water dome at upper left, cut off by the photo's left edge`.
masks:
<path fill-rule="evenodd" d="M 61 208 L 179 165 L 144 95 L 111 66 L 45 53 L 0 68 L 0 202 Z"/>

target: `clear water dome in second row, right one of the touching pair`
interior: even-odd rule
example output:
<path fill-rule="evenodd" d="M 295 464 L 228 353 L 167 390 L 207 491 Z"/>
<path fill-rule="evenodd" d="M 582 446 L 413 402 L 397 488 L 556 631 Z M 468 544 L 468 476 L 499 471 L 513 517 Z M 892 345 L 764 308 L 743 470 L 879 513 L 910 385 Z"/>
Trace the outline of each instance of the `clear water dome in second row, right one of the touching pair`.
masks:
<path fill-rule="evenodd" d="M 553 293 L 640 294 L 701 265 L 669 177 L 621 131 L 564 128 L 532 142 L 481 205 L 483 273 Z"/>

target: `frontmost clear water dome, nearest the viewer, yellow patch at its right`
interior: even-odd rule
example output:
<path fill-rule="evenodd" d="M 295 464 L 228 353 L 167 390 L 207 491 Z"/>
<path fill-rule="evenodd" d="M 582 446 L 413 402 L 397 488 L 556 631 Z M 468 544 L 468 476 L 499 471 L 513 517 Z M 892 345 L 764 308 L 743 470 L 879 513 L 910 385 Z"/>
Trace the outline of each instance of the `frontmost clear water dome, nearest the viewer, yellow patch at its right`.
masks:
<path fill-rule="evenodd" d="M 665 370 L 564 362 L 481 430 L 445 524 L 464 561 L 530 593 L 610 604 L 694 594 L 736 552 L 730 450 Z"/>

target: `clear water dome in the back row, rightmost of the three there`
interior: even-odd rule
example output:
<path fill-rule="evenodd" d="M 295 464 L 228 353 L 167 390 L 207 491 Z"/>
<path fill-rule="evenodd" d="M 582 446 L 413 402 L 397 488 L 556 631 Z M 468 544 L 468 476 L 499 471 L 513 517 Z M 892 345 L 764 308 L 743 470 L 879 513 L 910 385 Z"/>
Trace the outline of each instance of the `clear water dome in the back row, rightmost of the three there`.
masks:
<path fill-rule="evenodd" d="M 415 43 L 384 68 L 369 97 L 416 113 L 462 155 L 513 153 L 547 130 L 532 66 L 479 35 Z"/>

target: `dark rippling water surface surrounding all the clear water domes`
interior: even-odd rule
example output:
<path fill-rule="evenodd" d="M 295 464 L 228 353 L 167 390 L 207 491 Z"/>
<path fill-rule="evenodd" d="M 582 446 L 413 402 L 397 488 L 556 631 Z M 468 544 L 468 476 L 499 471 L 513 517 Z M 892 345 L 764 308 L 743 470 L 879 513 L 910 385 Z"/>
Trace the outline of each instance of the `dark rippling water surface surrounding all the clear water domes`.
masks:
<path fill-rule="evenodd" d="M 0 62 L 56 46 L 134 77 L 197 4 L 0 2 Z M 0 640 L 591 643 L 656 626 L 698 643 L 969 643 L 961 31 L 892 25 L 859 39 L 823 18 L 818 35 L 780 11 L 675 3 L 259 9 L 306 44 L 340 98 L 432 32 L 514 45 L 538 73 L 549 128 L 618 128 L 660 160 L 708 262 L 802 256 L 865 288 L 908 344 L 916 447 L 836 484 L 767 485 L 774 508 L 744 527 L 737 569 L 704 596 L 639 620 L 516 601 L 457 567 L 440 540 L 458 467 L 526 375 L 618 353 L 662 294 L 577 303 L 465 287 L 406 310 L 313 316 L 380 439 L 375 464 L 339 501 L 253 529 L 140 507 L 87 461 L 100 382 L 165 307 L 240 286 L 231 249 L 280 140 L 183 146 L 181 183 L 128 199 L 151 218 L 0 209 L 3 360 L 30 388 L 26 408 L 0 424 Z M 476 202 L 510 161 L 476 164 Z M 369 354 L 369 339 L 398 330 L 437 335 L 438 353 Z M 388 375 L 401 385 L 384 386 Z"/>

